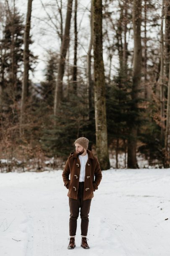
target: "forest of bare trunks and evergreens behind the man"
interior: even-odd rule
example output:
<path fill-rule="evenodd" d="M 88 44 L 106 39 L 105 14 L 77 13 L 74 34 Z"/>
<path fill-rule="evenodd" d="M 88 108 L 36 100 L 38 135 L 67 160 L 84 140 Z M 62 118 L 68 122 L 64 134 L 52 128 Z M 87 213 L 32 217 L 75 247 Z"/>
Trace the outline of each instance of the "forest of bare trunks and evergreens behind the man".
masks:
<path fill-rule="evenodd" d="M 0 171 L 62 166 L 81 136 L 102 170 L 170 167 L 169 0 L 0 0 Z"/>

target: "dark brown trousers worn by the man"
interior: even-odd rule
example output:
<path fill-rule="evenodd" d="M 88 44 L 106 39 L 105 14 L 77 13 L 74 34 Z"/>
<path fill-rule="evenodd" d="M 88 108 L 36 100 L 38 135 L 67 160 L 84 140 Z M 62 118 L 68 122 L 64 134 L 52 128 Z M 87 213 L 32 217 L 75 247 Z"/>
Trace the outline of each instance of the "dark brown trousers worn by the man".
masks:
<path fill-rule="evenodd" d="M 69 221 L 69 231 L 70 236 L 76 235 L 77 229 L 77 219 L 79 215 L 81 217 L 81 235 L 86 236 L 89 226 L 89 211 L 92 199 L 83 200 L 84 192 L 84 182 L 79 182 L 78 185 L 78 199 L 73 199 L 69 197 L 70 206 L 70 221 Z"/>

